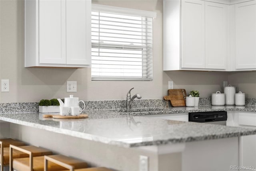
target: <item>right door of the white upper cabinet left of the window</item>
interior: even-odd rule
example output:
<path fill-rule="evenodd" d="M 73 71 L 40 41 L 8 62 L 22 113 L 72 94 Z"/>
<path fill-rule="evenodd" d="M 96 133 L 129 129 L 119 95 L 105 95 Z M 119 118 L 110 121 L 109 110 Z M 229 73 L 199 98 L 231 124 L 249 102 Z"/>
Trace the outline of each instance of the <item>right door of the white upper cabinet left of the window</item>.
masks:
<path fill-rule="evenodd" d="M 67 64 L 91 64 L 91 2 L 66 0 Z"/>

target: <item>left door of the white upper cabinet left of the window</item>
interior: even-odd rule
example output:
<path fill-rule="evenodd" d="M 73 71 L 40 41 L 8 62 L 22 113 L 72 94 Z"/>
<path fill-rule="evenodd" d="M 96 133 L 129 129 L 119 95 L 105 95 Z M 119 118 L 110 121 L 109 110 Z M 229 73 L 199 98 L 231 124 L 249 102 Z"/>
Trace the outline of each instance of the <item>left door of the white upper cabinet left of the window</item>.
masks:
<path fill-rule="evenodd" d="M 66 63 L 64 0 L 39 0 L 39 63 Z"/>

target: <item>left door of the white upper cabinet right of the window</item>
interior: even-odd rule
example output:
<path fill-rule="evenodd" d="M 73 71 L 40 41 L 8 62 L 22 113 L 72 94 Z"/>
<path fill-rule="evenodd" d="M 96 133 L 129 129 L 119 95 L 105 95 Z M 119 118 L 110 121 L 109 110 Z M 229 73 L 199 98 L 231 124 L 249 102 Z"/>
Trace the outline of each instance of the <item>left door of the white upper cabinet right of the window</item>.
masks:
<path fill-rule="evenodd" d="M 182 68 L 204 68 L 204 1 L 182 0 Z"/>

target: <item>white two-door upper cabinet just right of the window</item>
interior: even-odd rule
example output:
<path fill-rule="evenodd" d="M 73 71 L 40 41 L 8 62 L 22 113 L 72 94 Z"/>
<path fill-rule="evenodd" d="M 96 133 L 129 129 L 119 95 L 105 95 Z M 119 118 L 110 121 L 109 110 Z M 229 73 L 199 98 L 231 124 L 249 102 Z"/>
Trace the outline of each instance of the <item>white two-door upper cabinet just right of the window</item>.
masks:
<path fill-rule="evenodd" d="M 229 51 L 229 5 L 164 1 L 164 71 L 227 71 Z"/>

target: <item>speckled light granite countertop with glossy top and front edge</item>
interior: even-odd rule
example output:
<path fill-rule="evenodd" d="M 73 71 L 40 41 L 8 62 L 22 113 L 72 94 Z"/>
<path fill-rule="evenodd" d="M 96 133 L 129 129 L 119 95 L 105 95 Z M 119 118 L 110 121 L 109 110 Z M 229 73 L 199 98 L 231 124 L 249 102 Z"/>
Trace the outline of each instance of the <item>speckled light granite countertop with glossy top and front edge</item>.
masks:
<path fill-rule="evenodd" d="M 219 110 L 242 110 L 256 112 L 255 106 L 199 106 L 194 108 L 148 108 L 141 110 L 151 111 L 153 114 L 164 112 L 171 114 L 187 112 L 205 112 Z M 86 119 L 58 120 L 43 118 L 38 113 L 11 113 L 0 114 L 0 120 L 66 134 L 95 142 L 102 142 L 122 147 L 138 147 L 144 145 L 162 145 L 184 143 L 219 138 L 230 138 L 256 134 L 256 129 L 203 124 L 194 122 L 181 122 L 158 118 L 133 116 L 136 113 L 126 114 L 124 110 L 88 110 Z M 142 111 L 143 112 L 143 111 Z M 146 114 L 144 111 L 142 114 Z M 150 113 L 150 112 L 149 112 Z"/>

